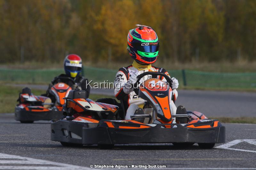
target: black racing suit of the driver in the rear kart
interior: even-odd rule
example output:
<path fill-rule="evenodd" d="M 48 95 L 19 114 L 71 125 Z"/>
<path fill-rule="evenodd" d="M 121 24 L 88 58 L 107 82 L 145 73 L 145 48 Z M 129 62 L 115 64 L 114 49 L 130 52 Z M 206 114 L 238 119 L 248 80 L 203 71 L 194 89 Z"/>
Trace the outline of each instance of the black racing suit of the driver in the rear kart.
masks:
<path fill-rule="evenodd" d="M 50 97 L 51 100 L 52 100 L 52 103 L 55 103 L 56 99 L 55 97 L 50 93 L 51 91 L 51 88 L 54 84 L 57 84 L 58 82 L 63 82 L 63 83 L 66 83 L 69 87 L 72 88 L 72 90 L 78 88 L 80 90 L 85 90 L 86 91 L 86 98 L 89 97 L 89 94 L 90 94 L 90 86 L 86 86 L 87 85 L 87 82 L 88 82 L 88 79 L 84 78 L 83 76 L 81 75 L 77 75 L 75 78 L 72 78 L 76 84 L 74 84 L 74 82 L 72 82 L 71 80 L 68 80 L 68 79 L 63 79 L 61 77 L 69 77 L 68 75 L 66 74 L 60 74 L 59 76 L 57 77 L 54 77 L 54 79 L 52 80 L 52 82 L 49 84 L 49 87 L 46 91 L 46 94 L 43 94 L 41 96 L 47 96 L 47 97 Z M 70 77 L 71 78 L 71 77 Z M 88 82 L 89 83 L 89 82 Z"/>

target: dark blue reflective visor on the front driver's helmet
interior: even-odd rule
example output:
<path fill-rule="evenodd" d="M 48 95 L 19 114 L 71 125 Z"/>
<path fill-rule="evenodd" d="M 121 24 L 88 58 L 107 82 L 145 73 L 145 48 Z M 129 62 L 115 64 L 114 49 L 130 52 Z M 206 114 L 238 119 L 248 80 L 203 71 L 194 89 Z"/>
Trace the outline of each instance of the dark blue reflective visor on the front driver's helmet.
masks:
<path fill-rule="evenodd" d="M 135 42 L 132 43 L 132 46 L 136 48 L 138 51 L 144 52 L 144 53 L 155 53 L 158 51 L 159 48 L 159 42 L 153 42 L 153 43 L 140 43 Z"/>

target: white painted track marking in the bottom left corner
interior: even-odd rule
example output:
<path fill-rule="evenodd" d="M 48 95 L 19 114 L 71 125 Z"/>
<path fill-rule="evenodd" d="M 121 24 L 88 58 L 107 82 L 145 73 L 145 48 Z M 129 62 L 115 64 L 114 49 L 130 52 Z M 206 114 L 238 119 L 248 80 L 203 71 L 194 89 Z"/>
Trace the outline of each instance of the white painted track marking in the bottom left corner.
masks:
<path fill-rule="evenodd" d="M 75 166 L 70 164 L 52 162 L 48 160 L 42 159 L 34 159 L 16 155 L 9 155 L 0 153 L 0 159 L 8 158 L 8 159 L 19 159 L 19 160 L 0 160 L 0 169 L 35 169 L 35 170 L 88 170 L 91 168 Z M 8 164 L 9 166 L 1 166 L 1 164 Z M 19 166 L 15 164 L 20 164 Z M 33 166 L 27 166 L 27 164 L 33 164 Z M 23 166 L 24 165 L 24 166 Z M 38 165 L 38 166 L 36 166 Z M 44 166 L 42 166 L 44 165 Z"/>

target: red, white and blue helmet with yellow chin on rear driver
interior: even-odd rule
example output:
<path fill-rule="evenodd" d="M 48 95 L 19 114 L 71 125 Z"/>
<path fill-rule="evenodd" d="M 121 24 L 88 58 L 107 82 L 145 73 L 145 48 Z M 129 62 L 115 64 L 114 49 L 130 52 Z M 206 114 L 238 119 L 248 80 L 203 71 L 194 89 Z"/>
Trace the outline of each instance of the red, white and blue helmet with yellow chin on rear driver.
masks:
<path fill-rule="evenodd" d="M 76 54 L 69 54 L 64 60 L 65 73 L 75 78 L 82 70 L 82 59 Z"/>

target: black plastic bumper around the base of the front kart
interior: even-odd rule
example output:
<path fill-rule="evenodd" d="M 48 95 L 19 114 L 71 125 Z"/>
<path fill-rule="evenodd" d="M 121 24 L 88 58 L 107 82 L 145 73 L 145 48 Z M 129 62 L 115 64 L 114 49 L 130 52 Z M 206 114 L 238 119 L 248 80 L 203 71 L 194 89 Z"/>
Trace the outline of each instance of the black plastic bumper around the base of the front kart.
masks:
<path fill-rule="evenodd" d="M 161 128 L 163 124 L 143 129 L 119 129 L 100 127 L 95 123 L 67 120 L 51 121 L 51 140 L 83 145 L 114 145 L 135 143 L 224 143 L 225 127 Z M 169 124 L 170 125 L 170 124 Z M 67 131 L 66 135 L 64 130 Z M 77 136 L 73 138 L 75 135 Z"/>

